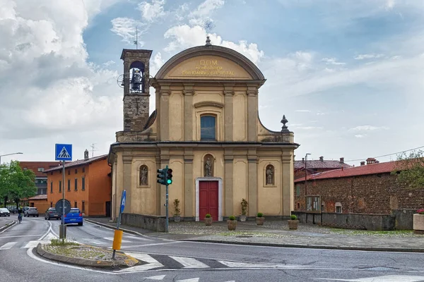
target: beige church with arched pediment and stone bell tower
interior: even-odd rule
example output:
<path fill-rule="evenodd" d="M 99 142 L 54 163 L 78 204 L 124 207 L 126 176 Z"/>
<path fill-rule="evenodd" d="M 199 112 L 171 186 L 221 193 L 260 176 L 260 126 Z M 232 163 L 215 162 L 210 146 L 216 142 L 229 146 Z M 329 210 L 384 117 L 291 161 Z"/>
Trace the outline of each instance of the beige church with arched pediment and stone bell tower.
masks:
<path fill-rule="evenodd" d="M 241 214 L 290 216 L 293 152 L 299 146 L 283 117 L 281 131 L 259 121 L 258 93 L 264 75 L 242 54 L 225 47 L 193 47 L 149 75 L 151 50 L 124 49 L 124 130 L 111 145 L 112 218 L 125 213 L 165 215 L 165 186 L 156 170 L 169 166 L 172 202 L 182 218 L 213 220 Z M 149 87 L 156 110 L 148 115 Z M 276 122 L 278 117 L 276 117 Z"/>

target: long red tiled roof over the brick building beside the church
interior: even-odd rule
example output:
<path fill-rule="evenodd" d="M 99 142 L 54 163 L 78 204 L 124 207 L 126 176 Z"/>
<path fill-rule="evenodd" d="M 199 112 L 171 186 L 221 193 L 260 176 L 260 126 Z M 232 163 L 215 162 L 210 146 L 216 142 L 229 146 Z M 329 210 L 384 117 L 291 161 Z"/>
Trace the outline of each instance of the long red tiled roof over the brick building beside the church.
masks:
<path fill-rule="evenodd" d="M 333 171 L 324 171 L 307 176 L 307 180 L 341 178 L 350 176 L 365 176 L 368 174 L 390 173 L 396 168 L 397 161 L 388 161 L 386 163 L 366 164 L 364 166 L 352 166 L 349 168 L 338 168 Z M 305 181 L 305 178 L 298 178 L 295 183 Z"/>

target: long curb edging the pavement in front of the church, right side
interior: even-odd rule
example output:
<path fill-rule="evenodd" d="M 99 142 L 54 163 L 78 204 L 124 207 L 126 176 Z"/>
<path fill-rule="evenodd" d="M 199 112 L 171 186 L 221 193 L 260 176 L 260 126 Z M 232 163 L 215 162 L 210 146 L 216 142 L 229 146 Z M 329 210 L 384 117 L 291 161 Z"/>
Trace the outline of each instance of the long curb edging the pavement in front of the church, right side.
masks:
<path fill-rule="evenodd" d="M 353 250 L 353 251 L 374 251 L 374 252 L 424 252 L 424 249 L 406 247 L 354 247 L 354 246 L 329 246 L 329 245 L 300 245 L 300 244 L 276 244 L 276 243 L 251 243 L 225 240 L 206 239 L 179 239 L 183 242 L 218 243 L 228 245 L 251 245 L 264 247 L 299 247 L 305 249 L 326 249 L 326 250 Z"/>

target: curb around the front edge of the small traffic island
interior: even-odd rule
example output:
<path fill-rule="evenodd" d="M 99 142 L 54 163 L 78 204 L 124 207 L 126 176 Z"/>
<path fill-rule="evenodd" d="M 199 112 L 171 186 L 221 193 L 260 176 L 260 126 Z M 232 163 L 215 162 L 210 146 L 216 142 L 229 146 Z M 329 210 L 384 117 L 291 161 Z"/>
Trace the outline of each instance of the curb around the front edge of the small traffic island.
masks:
<path fill-rule="evenodd" d="M 56 262 L 64 262 L 66 264 L 76 264 L 79 266 L 90 266 L 90 267 L 97 267 L 97 268 L 129 267 L 127 264 L 125 264 L 125 262 L 122 262 L 122 261 L 80 259 L 76 257 L 66 257 L 64 255 L 53 254 L 52 252 L 47 252 L 47 250 L 43 248 L 43 245 L 41 243 L 38 243 L 37 245 L 37 254 L 40 255 L 41 257 L 44 257 L 45 259 L 51 259 Z M 135 264 L 139 263 L 139 261 L 137 259 L 134 259 L 134 257 L 130 257 L 129 255 L 125 255 L 125 256 L 128 257 L 128 259 L 126 260 L 132 260 L 133 262 L 136 262 Z"/>

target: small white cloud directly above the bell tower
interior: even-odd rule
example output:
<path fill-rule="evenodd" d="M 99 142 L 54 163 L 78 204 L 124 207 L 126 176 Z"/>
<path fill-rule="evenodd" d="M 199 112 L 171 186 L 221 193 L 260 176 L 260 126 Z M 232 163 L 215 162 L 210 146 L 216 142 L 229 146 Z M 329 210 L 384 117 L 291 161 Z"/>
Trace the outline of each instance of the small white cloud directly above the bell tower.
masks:
<path fill-rule="evenodd" d="M 114 18 L 111 23 L 112 28 L 110 30 L 122 37 L 123 42 L 134 44 L 136 35 L 138 35 L 139 47 L 143 47 L 144 42 L 140 38 L 146 32 L 148 25 L 132 18 Z"/>

